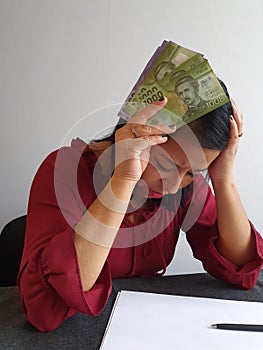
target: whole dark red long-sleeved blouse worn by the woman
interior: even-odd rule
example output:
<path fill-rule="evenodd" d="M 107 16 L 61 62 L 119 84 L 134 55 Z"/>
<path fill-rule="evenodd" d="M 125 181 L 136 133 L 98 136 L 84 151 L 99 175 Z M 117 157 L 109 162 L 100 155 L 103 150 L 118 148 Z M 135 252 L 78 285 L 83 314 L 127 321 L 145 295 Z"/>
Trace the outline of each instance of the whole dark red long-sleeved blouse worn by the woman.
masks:
<path fill-rule="evenodd" d="M 263 239 L 251 224 L 257 257 L 244 266 L 219 254 L 214 245 L 215 199 L 200 175 L 182 193 L 153 202 L 148 212 L 138 210 L 141 219 L 137 224 L 126 216 L 99 278 L 90 291 L 83 292 L 73 231 L 96 198 L 96 161 L 94 153 L 77 139 L 71 147 L 51 153 L 34 178 L 17 280 L 26 317 L 33 326 L 49 331 L 77 312 L 97 315 L 110 295 L 112 278 L 164 273 L 180 229 L 208 273 L 239 288 L 255 285 L 263 264 Z M 107 179 L 98 169 L 96 183 L 103 186 Z"/>

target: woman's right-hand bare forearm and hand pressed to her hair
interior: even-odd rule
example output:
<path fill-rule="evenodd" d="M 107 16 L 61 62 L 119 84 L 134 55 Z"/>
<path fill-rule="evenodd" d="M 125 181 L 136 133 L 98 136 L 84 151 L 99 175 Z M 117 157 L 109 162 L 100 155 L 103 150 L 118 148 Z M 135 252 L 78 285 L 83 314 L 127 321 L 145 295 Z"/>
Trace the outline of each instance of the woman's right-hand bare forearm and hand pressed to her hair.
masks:
<path fill-rule="evenodd" d="M 235 103 L 232 105 L 234 117 L 230 118 L 228 146 L 208 170 L 216 198 L 219 232 L 216 247 L 234 264 L 244 265 L 255 258 L 256 244 L 233 179 L 233 164 L 242 133 L 242 114 Z"/>

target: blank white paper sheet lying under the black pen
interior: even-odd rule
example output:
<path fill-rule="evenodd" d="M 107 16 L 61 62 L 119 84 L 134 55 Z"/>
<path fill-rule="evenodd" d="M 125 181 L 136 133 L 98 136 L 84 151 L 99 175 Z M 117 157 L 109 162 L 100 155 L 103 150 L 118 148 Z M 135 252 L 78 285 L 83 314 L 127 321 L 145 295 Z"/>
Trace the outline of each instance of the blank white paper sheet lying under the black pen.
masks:
<path fill-rule="evenodd" d="M 263 324 L 263 303 L 121 291 L 101 350 L 263 350 L 263 333 L 212 329 Z"/>

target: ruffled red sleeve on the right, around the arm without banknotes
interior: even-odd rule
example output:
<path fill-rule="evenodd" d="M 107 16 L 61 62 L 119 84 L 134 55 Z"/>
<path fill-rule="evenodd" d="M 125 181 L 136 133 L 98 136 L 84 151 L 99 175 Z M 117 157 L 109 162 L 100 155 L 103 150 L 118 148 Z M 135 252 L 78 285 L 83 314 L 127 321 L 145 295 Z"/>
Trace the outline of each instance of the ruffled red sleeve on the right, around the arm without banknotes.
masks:
<path fill-rule="evenodd" d="M 199 180 L 198 180 L 199 181 Z M 199 181 L 197 192 L 206 192 L 206 200 L 201 215 L 186 232 L 194 257 L 201 260 L 204 269 L 212 276 L 231 283 L 238 288 L 250 289 L 256 281 L 263 265 L 263 239 L 255 227 L 251 232 L 255 237 L 257 256 L 244 266 L 237 266 L 224 258 L 215 247 L 218 238 L 216 203 L 209 186 Z M 201 195 L 202 197 L 202 195 Z"/>

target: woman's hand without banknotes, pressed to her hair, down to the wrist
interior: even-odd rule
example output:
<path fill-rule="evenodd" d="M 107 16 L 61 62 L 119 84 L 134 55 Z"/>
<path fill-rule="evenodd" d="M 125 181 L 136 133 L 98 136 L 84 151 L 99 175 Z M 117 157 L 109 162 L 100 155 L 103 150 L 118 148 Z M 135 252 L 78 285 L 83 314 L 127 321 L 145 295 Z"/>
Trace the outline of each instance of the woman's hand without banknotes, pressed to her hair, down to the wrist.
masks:
<path fill-rule="evenodd" d="M 230 137 L 227 147 L 219 154 L 208 168 L 213 183 L 233 179 L 233 166 L 239 138 L 242 136 L 243 116 L 236 103 L 231 100 L 233 116 L 230 117 Z"/>

